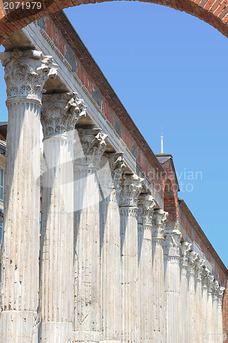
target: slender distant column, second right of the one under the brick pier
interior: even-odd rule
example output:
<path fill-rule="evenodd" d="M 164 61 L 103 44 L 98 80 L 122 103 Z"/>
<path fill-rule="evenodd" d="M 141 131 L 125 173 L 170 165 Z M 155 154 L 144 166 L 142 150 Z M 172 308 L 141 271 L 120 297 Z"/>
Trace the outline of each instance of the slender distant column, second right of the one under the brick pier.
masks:
<path fill-rule="evenodd" d="M 196 301 L 195 301 L 195 287 L 194 275 L 196 268 L 196 261 L 199 259 L 198 254 L 194 251 L 190 252 L 188 257 L 188 337 L 190 341 L 195 342 L 197 336 L 197 318 L 196 318 Z"/>

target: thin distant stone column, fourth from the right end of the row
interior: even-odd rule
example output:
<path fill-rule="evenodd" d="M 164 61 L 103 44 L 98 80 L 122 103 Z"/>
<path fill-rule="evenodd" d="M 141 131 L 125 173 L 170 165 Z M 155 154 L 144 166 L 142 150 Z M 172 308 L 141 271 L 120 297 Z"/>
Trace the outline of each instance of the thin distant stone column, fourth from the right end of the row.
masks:
<path fill-rule="evenodd" d="M 203 333 L 203 340 L 208 341 L 208 309 L 207 309 L 207 278 L 210 274 L 210 270 L 207 268 L 203 268 L 202 272 L 202 333 Z"/>

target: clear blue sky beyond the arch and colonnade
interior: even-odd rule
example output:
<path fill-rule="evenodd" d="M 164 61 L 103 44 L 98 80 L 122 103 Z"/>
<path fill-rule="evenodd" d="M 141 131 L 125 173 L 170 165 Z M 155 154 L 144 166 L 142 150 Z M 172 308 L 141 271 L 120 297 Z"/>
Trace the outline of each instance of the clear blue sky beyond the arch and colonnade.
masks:
<path fill-rule="evenodd" d="M 185 12 L 150 3 L 65 12 L 155 153 L 163 127 L 164 152 L 181 176 L 179 197 L 228 265 L 227 38 Z M 3 68 L 0 82 L 3 90 Z"/>

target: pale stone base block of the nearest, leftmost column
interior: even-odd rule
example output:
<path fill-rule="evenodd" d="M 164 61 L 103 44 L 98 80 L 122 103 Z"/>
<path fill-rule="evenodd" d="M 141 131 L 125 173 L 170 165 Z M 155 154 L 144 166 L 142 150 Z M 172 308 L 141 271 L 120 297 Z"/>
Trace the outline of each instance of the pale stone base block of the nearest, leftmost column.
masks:
<path fill-rule="evenodd" d="M 37 343 L 38 315 L 35 311 L 2 311 L 1 343 Z"/>

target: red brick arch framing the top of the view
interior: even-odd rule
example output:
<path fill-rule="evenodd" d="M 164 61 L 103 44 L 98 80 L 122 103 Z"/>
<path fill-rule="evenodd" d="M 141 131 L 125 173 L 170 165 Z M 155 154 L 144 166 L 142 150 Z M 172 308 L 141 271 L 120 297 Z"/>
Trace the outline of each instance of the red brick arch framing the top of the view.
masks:
<path fill-rule="evenodd" d="M 7 0 L 15 3 L 18 0 Z M 23 0 L 33 1 L 33 0 Z M 36 21 L 44 16 L 64 10 L 64 8 L 86 4 L 104 2 L 109 0 L 34 0 L 42 3 L 42 8 L 37 6 L 29 10 L 18 9 L 4 10 L 4 0 L 0 0 L 0 43 L 6 38 L 22 29 L 32 21 Z M 140 0 L 142 2 L 157 3 L 175 10 L 184 11 L 192 16 L 209 23 L 224 36 L 228 37 L 228 1 L 227 0 Z"/>

